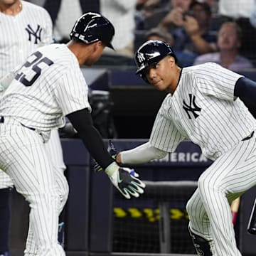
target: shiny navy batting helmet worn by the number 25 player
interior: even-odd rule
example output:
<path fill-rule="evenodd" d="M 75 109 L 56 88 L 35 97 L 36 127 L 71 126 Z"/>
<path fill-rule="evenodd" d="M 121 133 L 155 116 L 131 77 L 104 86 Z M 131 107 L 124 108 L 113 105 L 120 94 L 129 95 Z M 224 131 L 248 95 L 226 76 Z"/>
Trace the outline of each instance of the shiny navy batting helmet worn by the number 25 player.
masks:
<path fill-rule="evenodd" d="M 95 12 L 88 12 L 80 16 L 70 33 L 71 39 L 78 38 L 84 43 L 102 41 L 107 47 L 114 49 L 111 44 L 113 36 L 114 26 L 112 23 L 102 14 Z"/>

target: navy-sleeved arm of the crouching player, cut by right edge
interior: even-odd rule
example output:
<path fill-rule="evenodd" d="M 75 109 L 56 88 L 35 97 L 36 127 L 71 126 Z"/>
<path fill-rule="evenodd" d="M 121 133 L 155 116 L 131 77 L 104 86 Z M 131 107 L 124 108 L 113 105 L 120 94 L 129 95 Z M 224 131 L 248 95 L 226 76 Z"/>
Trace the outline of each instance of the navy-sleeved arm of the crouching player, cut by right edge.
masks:
<path fill-rule="evenodd" d="M 234 95 L 245 103 L 250 113 L 256 118 L 256 82 L 249 78 L 239 78 L 235 83 Z"/>

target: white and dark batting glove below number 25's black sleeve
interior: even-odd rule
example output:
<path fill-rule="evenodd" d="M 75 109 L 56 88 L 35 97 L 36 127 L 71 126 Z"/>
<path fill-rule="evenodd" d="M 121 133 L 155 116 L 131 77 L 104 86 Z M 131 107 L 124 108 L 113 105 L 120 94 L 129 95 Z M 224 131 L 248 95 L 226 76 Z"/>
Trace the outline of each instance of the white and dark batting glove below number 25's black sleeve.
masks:
<path fill-rule="evenodd" d="M 118 166 L 116 162 L 105 169 L 105 173 L 109 176 L 112 184 L 127 199 L 130 199 L 131 196 L 139 197 L 139 194 L 144 193 L 142 188 L 146 186 L 139 178 L 132 175 L 132 171 L 134 170 Z"/>

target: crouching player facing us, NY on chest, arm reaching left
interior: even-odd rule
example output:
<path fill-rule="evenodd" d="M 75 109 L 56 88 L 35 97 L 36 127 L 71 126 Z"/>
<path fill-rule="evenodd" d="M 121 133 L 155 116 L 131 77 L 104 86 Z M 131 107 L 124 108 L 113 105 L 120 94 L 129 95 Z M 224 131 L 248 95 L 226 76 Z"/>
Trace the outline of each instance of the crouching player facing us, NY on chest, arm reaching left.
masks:
<path fill-rule="evenodd" d="M 168 95 L 149 142 L 117 154 L 117 163 L 161 159 L 183 139 L 198 144 L 214 162 L 186 206 L 197 255 L 240 256 L 230 202 L 256 184 L 256 82 L 215 63 L 179 68 L 163 41 L 146 41 L 135 59 L 137 73 Z"/>

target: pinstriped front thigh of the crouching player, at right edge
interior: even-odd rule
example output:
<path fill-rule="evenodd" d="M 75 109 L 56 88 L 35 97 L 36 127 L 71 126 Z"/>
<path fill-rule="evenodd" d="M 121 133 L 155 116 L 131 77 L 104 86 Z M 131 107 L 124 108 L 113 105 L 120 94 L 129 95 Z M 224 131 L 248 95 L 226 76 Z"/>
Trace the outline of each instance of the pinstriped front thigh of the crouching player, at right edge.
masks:
<path fill-rule="evenodd" d="M 230 200 L 256 185 L 256 139 L 253 137 L 220 156 L 198 180 L 198 184 L 219 188 Z"/>

